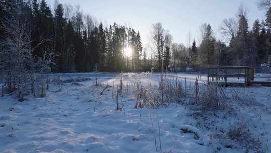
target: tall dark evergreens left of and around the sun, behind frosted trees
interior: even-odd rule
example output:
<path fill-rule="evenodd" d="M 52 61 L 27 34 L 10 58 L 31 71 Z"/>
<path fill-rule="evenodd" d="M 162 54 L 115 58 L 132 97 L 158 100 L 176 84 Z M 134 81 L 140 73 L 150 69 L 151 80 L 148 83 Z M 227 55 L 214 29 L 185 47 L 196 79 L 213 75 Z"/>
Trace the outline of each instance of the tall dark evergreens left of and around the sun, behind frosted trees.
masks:
<path fill-rule="evenodd" d="M 79 6 L 57 4 L 50 9 L 45 0 L 0 1 L 0 19 L 13 16 L 18 11 L 30 23 L 31 48 L 34 59 L 46 50 L 56 56 L 53 72 L 138 71 L 142 69 L 142 43 L 140 33 L 114 23 L 105 27 L 90 16 L 84 15 Z M 20 6 L 18 6 L 20 5 Z M 54 12 L 54 13 L 52 13 Z M 20 18 L 17 18 L 21 20 Z M 5 37 L 3 27 L 0 38 Z M 131 57 L 124 56 L 124 49 L 131 48 Z M 129 59 L 128 59 L 129 58 Z"/>

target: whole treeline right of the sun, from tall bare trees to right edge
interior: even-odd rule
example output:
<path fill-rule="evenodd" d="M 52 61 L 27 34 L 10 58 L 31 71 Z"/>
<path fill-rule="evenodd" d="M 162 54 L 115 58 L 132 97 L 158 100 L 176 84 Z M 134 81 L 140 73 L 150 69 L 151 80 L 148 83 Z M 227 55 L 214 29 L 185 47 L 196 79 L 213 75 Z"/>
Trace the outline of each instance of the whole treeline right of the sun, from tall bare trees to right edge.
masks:
<path fill-rule="evenodd" d="M 211 65 L 245 65 L 261 70 L 262 64 L 271 64 L 271 1 L 258 3 L 260 8 L 266 9 L 265 20 L 256 19 L 249 29 L 248 9 L 241 3 L 238 17 L 224 19 L 219 27 L 224 40 L 216 39 L 212 26 L 204 23 L 200 26 L 198 45 L 195 39 L 191 41 L 190 34 L 187 46 L 172 43 L 169 32 L 161 23 L 155 23 L 151 29 L 151 49 L 156 57 L 154 66 L 161 70 L 161 62 L 164 61 L 164 69 L 177 72 L 185 71 L 188 66 L 200 70 Z M 162 56 L 162 52 L 166 55 Z"/>

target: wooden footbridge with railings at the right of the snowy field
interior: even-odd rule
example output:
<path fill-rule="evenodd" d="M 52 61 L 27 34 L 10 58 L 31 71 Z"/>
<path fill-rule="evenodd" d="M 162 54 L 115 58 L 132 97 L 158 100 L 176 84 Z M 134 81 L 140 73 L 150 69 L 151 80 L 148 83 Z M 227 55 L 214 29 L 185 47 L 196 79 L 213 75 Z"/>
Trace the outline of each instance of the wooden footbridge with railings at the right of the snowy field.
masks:
<path fill-rule="evenodd" d="M 249 66 L 211 66 L 208 67 L 207 82 L 222 86 L 270 86 L 271 81 L 255 81 L 255 69 Z"/>

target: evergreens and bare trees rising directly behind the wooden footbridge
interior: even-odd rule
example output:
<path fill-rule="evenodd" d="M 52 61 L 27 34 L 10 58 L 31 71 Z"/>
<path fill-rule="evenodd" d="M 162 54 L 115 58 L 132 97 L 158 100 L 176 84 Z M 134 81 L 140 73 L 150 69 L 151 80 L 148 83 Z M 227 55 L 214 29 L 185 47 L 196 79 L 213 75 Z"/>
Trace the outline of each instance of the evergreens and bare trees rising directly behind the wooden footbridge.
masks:
<path fill-rule="evenodd" d="M 216 40 L 210 24 L 203 24 L 201 31 L 198 48 L 194 40 L 187 49 L 193 67 L 246 65 L 259 69 L 261 64 L 271 62 L 271 8 L 266 12 L 265 21 L 257 19 L 249 28 L 247 10 L 241 5 L 237 19 L 225 19 L 221 24 L 224 41 Z"/>

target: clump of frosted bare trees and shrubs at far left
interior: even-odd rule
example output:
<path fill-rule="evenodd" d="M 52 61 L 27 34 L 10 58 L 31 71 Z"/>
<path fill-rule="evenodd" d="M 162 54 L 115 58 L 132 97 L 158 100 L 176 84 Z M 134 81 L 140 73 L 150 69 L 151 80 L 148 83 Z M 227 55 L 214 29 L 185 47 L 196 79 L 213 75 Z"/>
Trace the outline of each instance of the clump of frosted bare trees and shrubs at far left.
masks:
<path fill-rule="evenodd" d="M 0 72 L 3 74 L 6 90 L 9 93 L 15 91 L 19 101 L 23 101 L 30 89 L 35 95 L 35 90 L 37 90 L 35 82 L 40 80 L 42 80 L 40 91 L 43 94 L 39 92 L 39 96 L 44 95 L 44 77 L 38 78 L 38 76 L 50 71 L 49 66 L 53 64 L 54 55 L 53 53 L 45 53 L 49 48 L 45 46 L 48 41 L 44 38 L 40 38 L 37 45 L 32 46 L 33 26 L 29 22 L 31 16 L 26 16 L 27 12 L 31 12 L 28 4 L 18 0 L 9 6 L 9 9 L 11 11 L 7 12 L 1 25 L 5 37 L 0 41 L 2 47 L 0 50 L 0 65 L 2 67 Z M 33 56 L 38 47 L 41 48 L 38 53 L 43 52 L 42 57 Z"/>

